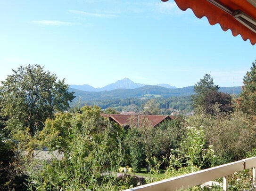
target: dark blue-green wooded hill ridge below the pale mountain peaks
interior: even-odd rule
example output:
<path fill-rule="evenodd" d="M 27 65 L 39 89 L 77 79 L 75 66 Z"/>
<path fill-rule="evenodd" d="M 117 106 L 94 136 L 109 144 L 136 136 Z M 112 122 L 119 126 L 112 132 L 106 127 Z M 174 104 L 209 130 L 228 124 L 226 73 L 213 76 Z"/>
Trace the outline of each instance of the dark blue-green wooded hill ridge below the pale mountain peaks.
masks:
<path fill-rule="evenodd" d="M 76 98 L 74 102 L 80 99 L 81 102 L 90 100 L 103 100 L 103 99 L 125 99 L 125 98 L 145 98 L 150 95 L 169 98 L 169 97 L 182 97 L 194 94 L 194 86 L 184 88 L 165 88 L 157 85 L 144 85 L 135 89 L 115 89 L 110 91 L 101 92 L 86 92 L 74 88 L 69 88 L 70 92 L 75 92 Z M 230 94 L 238 94 L 241 92 L 241 87 L 220 87 L 219 92 Z"/>

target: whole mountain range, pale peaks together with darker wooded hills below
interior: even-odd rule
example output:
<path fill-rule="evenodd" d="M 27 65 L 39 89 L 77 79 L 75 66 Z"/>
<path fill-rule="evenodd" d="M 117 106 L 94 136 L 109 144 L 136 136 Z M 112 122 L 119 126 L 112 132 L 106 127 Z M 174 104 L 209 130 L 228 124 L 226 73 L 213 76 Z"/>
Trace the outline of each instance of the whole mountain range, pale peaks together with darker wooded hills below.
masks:
<path fill-rule="evenodd" d="M 74 95 L 76 96 L 73 100 L 74 102 L 78 100 L 87 102 L 104 99 L 143 99 L 191 96 L 194 94 L 194 86 L 176 88 L 168 84 L 144 85 L 133 83 L 128 78 L 124 78 L 123 80 L 118 80 L 116 83 L 109 84 L 103 88 L 93 88 L 90 85 L 70 85 L 69 91 L 74 92 Z M 241 87 L 220 87 L 219 92 L 239 94 L 241 92 Z"/>

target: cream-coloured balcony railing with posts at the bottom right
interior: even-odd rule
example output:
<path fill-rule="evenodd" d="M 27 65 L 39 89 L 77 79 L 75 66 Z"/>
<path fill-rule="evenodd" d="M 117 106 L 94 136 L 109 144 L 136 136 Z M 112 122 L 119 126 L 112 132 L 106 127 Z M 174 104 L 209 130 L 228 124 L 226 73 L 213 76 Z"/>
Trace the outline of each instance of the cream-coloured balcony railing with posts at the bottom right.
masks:
<path fill-rule="evenodd" d="M 213 168 L 207 168 L 182 176 L 141 185 L 125 191 L 178 191 L 223 177 L 223 191 L 228 189 L 227 176 L 248 168 L 253 168 L 253 184 L 256 178 L 256 157 L 251 157 Z"/>

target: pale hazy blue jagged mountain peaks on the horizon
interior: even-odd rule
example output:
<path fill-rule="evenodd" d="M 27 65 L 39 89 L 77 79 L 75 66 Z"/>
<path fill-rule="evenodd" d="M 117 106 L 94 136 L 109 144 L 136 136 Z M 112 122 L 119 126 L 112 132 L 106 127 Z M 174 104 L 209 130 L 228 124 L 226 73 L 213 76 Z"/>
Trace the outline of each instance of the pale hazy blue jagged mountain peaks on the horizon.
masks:
<path fill-rule="evenodd" d="M 74 88 L 77 90 L 83 90 L 86 92 L 102 92 L 102 91 L 111 91 L 116 89 L 136 89 L 139 87 L 143 87 L 145 84 L 134 83 L 132 80 L 128 78 L 124 78 L 122 80 L 117 80 L 115 83 L 108 84 L 102 88 L 94 88 L 91 85 L 70 85 L 69 88 Z M 165 88 L 176 88 L 175 86 L 171 86 L 169 84 L 157 84 L 157 86 L 162 86 Z"/>

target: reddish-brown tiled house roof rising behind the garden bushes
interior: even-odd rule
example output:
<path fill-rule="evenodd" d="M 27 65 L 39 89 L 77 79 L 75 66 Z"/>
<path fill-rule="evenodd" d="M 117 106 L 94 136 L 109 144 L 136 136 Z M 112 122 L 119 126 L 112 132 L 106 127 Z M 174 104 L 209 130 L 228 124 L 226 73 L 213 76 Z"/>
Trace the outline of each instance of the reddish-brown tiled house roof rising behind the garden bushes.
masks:
<path fill-rule="evenodd" d="M 176 116 L 169 115 L 119 115 L 119 114 L 105 114 L 103 117 L 108 117 L 111 121 L 115 121 L 118 124 L 125 126 L 133 123 L 136 126 L 140 126 L 141 123 L 147 121 L 152 127 L 157 126 L 165 119 L 175 119 Z"/>

